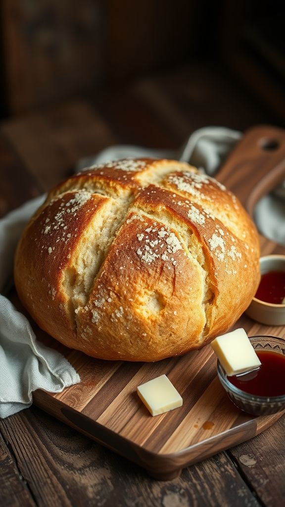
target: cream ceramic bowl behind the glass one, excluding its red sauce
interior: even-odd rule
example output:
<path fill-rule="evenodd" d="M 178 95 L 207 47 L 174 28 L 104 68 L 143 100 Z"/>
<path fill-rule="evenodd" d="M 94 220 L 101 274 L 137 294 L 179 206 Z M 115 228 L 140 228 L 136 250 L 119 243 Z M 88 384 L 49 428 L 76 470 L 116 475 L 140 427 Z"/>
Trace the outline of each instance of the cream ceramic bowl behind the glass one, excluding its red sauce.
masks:
<path fill-rule="evenodd" d="M 263 275 L 268 271 L 285 271 L 285 255 L 268 255 L 260 258 L 260 271 Z M 245 310 L 246 315 L 262 324 L 284 325 L 285 304 L 275 305 L 253 298 Z"/>

